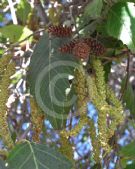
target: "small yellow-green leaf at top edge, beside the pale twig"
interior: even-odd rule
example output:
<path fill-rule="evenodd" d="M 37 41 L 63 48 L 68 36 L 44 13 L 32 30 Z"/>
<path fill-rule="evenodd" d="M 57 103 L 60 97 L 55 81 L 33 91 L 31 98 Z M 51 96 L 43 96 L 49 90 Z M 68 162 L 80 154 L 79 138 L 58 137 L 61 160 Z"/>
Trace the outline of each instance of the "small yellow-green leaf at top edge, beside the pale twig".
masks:
<path fill-rule="evenodd" d="M 20 3 L 17 5 L 16 14 L 23 24 L 26 23 L 30 11 L 31 11 L 31 6 L 27 0 L 21 0 Z"/>

